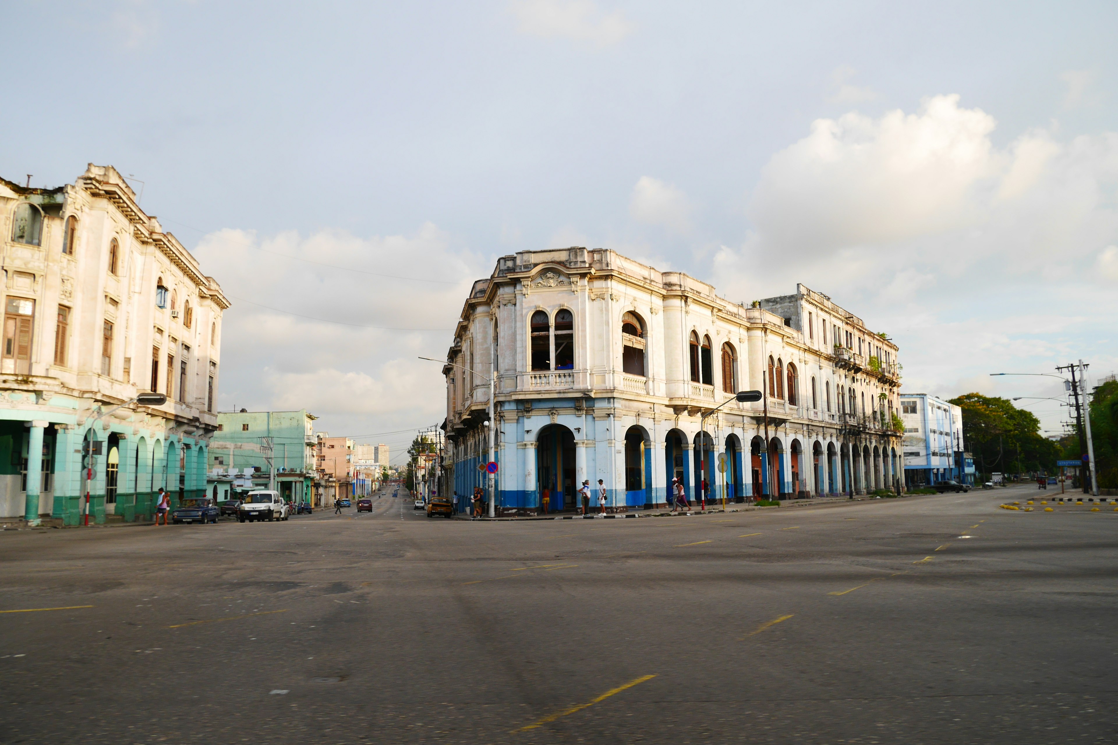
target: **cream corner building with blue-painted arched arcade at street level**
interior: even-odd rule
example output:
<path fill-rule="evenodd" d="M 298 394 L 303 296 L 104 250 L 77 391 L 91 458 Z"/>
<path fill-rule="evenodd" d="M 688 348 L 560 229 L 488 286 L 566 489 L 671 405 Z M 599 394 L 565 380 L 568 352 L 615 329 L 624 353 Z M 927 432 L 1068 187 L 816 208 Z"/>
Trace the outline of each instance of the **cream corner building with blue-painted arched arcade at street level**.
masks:
<path fill-rule="evenodd" d="M 577 509 L 586 479 L 610 512 L 664 506 L 673 478 L 692 502 L 703 481 L 733 502 L 902 484 L 897 346 L 803 285 L 746 306 L 612 250 L 522 251 L 474 283 L 446 359 L 459 509 L 489 460 L 504 515 L 538 512 L 544 489 L 550 512 Z"/>

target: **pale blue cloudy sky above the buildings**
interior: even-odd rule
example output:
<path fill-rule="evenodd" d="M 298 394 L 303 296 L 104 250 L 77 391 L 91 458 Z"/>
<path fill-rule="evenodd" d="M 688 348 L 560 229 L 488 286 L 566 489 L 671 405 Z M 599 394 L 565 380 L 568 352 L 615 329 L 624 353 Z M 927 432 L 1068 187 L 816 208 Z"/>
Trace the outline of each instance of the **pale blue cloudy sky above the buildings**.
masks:
<path fill-rule="evenodd" d="M 21 2 L 0 175 L 115 165 L 233 302 L 219 408 L 399 453 L 496 257 L 802 281 L 903 390 L 1118 370 L 1112 2 Z M 12 32 L 22 29 L 22 32 Z M 18 102 L 18 103 L 17 103 Z M 394 460 L 396 460 L 394 458 Z"/>

